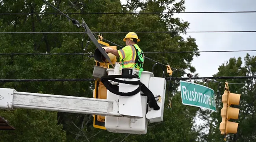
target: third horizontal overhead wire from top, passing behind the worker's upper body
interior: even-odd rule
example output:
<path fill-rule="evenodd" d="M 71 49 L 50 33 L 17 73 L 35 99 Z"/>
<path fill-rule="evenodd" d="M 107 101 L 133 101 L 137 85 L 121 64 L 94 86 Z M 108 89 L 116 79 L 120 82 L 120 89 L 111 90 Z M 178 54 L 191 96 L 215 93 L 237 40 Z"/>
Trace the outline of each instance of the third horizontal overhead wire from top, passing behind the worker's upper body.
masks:
<path fill-rule="evenodd" d="M 143 52 L 147 54 L 154 53 L 201 53 L 201 52 L 256 52 L 256 50 L 224 50 L 224 51 L 163 51 L 163 52 Z M 1 55 L 82 55 L 91 53 L 0 53 Z"/>

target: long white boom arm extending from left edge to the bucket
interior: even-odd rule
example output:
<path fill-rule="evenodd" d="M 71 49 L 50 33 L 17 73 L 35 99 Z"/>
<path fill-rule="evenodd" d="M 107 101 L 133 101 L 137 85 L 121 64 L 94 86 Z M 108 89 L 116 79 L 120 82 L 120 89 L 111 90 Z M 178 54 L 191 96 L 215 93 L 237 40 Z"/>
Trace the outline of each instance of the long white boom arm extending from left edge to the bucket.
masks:
<path fill-rule="evenodd" d="M 114 100 L 26 93 L 0 88 L 0 109 L 14 108 L 122 117 Z"/>

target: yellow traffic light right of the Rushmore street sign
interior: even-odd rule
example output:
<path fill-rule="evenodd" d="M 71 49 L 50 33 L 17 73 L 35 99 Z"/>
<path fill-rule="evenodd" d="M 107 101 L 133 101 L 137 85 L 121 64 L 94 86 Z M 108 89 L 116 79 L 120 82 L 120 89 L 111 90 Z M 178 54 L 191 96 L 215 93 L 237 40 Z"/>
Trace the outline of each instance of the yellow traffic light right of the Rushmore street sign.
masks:
<path fill-rule="evenodd" d="M 240 94 L 230 93 L 228 83 L 225 83 L 224 93 L 222 95 L 223 108 L 221 109 L 222 122 L 219 126 L 221 134 L 225 137 L 228 133 L 237 133 L 238 123 L 229 121 L 230 119 L 238 119 L 239 108 L 232 108 L 230 105 L 239 105 Z"/>

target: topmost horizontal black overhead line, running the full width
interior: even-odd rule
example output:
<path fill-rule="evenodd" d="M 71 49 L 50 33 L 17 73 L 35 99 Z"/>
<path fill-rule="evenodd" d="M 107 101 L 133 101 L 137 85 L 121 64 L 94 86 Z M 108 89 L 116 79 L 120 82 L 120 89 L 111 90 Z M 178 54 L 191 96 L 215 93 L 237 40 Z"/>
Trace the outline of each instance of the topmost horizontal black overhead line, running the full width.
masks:
<path fill-rule="evenodd" d="M 129 12 L 129 13 L 65 13 L 65 14 L 200 14 L 200 13 L 256 13 L 256 11 L 199 11 L 199 12 Z M 62 14 L 62 13 L 0 13 L 0 15 Z"/>

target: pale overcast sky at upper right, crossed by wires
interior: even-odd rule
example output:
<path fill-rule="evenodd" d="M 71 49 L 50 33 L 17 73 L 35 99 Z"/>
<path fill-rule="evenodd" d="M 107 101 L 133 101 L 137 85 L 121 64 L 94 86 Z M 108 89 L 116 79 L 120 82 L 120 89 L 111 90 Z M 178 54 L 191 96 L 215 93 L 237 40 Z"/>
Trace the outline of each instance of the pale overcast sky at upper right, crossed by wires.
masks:
<path fill-rule="evenodd" d="M 124 0 L 121 0 L 122 2 Z M 256 11 L 256 0 L 185 0 L 186 12 Z M 256 13 L 174 14 L 190 23 L 187 31 L 256 31 Z M 256 32 L 188 33 L 196 39 L 199 51 L 256 50 Z M 200 77 L 211 77 L 230 58 L 244 58 L 247 52 L 201 53 L 192 65 Z M 256 55 L 256 52 L 249 53 Z"/>

